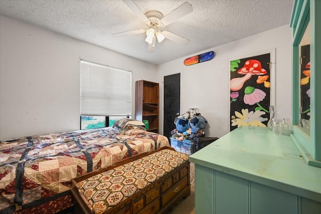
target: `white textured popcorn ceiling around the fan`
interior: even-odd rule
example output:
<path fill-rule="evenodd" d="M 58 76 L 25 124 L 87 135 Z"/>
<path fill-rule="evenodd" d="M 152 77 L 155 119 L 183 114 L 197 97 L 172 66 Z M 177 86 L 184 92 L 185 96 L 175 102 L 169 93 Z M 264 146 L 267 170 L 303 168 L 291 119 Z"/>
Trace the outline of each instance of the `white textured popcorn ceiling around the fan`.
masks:
<path fill-rule="evenodd" d="M 293 0 L 134 0 L 143 13 L 164 16 L 184 2 L 193 12 L 161 28 L 191 40 L 165 39 L 147 53 L 146 35 L 112 37 L 146 25 L 121 0 L 0 0 L 0 14 L 31 23 L 152 64 L 162 64 L 255 35 L 290 22 Z M 215 50 L 214 50 L 215 51 Z"/>

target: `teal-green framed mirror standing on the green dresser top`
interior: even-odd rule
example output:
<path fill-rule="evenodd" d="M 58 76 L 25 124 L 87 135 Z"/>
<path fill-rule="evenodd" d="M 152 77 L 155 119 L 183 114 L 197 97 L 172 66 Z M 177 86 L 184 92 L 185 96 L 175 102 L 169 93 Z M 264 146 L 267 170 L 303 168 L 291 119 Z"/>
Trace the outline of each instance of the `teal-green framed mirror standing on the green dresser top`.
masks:
<path fill-rule="evenodd" d="M 291 138 L 308 165 L 321 167 L 321 1 L 295 0 Z"/>

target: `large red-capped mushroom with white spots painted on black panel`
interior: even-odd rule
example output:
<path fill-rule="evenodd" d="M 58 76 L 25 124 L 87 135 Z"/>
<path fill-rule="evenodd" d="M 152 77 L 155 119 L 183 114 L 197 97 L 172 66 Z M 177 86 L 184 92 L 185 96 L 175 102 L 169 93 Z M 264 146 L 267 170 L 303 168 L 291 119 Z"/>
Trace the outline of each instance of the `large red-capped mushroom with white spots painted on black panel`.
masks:
<path fill-rule="evenodd" d="M 249 59 L 244 63 L 243 68 L 239 69 L 237 73 L 245 75 L 231 79 L 230 88 L 232 91 L 240 90 L 243 87 L 244 82 L 250 79 L 252 75 L 266 74 L 266 70 L 262 68 L 260 61 Z"/>

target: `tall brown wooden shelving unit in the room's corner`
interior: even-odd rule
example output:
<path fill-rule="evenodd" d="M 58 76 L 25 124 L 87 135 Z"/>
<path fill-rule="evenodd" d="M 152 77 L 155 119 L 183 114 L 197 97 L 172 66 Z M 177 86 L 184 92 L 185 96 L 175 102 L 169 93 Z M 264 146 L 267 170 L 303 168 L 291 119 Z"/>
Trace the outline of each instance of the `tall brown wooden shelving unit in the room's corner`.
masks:
<path fill-rule="evenodd" d="M 135 120 L 148 121 L 148 132 L 158 133 L 159 83 L 138 80 L 135 84 Z"/>

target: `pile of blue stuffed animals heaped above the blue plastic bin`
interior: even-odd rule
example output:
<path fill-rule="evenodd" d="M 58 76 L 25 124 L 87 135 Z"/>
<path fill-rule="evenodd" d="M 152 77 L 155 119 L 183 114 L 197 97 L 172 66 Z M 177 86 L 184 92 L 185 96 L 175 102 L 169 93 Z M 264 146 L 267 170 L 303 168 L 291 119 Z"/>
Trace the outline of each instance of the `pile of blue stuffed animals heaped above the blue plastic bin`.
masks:
<path fill-rule="evenodd" d="M 205 124 L 207 124 L 207 120 L 195 110 L 189 110 L 183 115 L 178 116 L 175 119 L 174 124 L 176 125 L 176 129 L 171 132 L 171 136 L 178 141 L 193 141 L 195 137 L 205 136 L 204 128 Z"/>

